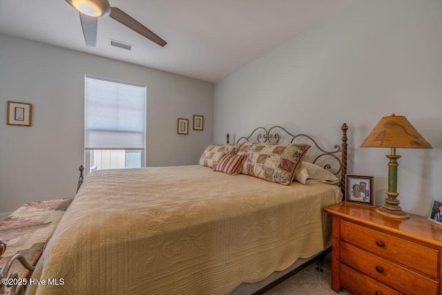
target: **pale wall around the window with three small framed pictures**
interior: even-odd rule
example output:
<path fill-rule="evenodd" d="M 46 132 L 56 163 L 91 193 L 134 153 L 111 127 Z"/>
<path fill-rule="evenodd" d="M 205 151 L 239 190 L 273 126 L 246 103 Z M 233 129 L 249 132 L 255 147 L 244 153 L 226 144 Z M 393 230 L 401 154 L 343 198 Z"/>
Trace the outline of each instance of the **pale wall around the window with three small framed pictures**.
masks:
<path fill-rule="evenodd" d="M 147 86 L 147 166 L 195 164 L 212 142 L 213 84 L 0 35 L 0 216 L 75 195 L 86 74 Z M 8 100 L 33 104 L 32 127 L 6 125 Z M 204 131 L 192 130 L 193 115 L 204 115 Z M 189 135 L 177 135 L 178 117 Z"/>

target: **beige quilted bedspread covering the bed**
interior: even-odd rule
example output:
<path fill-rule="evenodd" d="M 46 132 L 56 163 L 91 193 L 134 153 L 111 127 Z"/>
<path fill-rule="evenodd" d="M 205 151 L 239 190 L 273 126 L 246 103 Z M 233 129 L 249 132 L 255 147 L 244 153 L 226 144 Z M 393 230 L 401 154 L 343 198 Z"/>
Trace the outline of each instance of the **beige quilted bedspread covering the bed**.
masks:
<path fill-rule="evenodd" d="M 28 293 L 229 294 L 328 247 L 336 189 L 204 166 L 90 173 Z"/>

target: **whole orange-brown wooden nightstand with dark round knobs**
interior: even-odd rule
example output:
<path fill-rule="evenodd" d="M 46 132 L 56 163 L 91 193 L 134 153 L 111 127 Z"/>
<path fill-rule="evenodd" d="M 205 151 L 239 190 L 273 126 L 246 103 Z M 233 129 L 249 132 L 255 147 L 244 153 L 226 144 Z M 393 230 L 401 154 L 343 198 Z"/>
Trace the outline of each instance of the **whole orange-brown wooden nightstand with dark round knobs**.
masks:
<path fill-rule="evenodd" d="M 442 295 L 442 226 L 424 216 L 387 218 L 344 202 L 332 214 L 332 289 L 354 294 Z"/>

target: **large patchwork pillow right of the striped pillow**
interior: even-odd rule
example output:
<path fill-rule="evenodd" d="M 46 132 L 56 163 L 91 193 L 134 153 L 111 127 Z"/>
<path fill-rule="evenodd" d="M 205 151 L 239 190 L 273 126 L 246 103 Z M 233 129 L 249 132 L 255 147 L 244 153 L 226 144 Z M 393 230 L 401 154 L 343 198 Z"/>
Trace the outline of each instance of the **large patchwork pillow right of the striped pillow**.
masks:
<path fill-rule="evenodd" d="M 247 155 L 242 173 L 289 185 L 309 147 L 309 144 L 246 142 L 238 151 L 238 155 Z"/>

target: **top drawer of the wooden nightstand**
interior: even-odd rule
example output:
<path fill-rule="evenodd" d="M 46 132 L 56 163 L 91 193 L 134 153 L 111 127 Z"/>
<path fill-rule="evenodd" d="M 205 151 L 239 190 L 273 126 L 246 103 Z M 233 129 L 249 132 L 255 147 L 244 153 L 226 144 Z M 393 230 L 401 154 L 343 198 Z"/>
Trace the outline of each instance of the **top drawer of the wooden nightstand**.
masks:
<path fill-rule="evenodd" d="M 340 239 L 396 263 L 438 278 L 439 251 L 342 220 Z"/>

